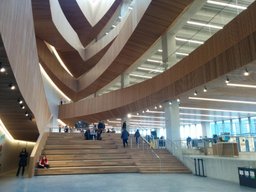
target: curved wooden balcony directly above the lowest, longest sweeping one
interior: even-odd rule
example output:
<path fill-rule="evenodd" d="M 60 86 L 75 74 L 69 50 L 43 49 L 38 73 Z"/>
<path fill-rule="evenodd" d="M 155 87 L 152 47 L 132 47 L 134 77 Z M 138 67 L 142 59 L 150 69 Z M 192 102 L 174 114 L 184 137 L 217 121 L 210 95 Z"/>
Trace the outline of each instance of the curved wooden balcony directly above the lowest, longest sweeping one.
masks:
<path fill-rule="evenodd" d="M 124 73 L 157 42 L 192 2 L 153 0 L 148 5 L 145 1 L 137 1 L 126 20 L 127 24 L 109 50 L 89 73 L 78 80 L 77 100 L 99 91 Z"/>

